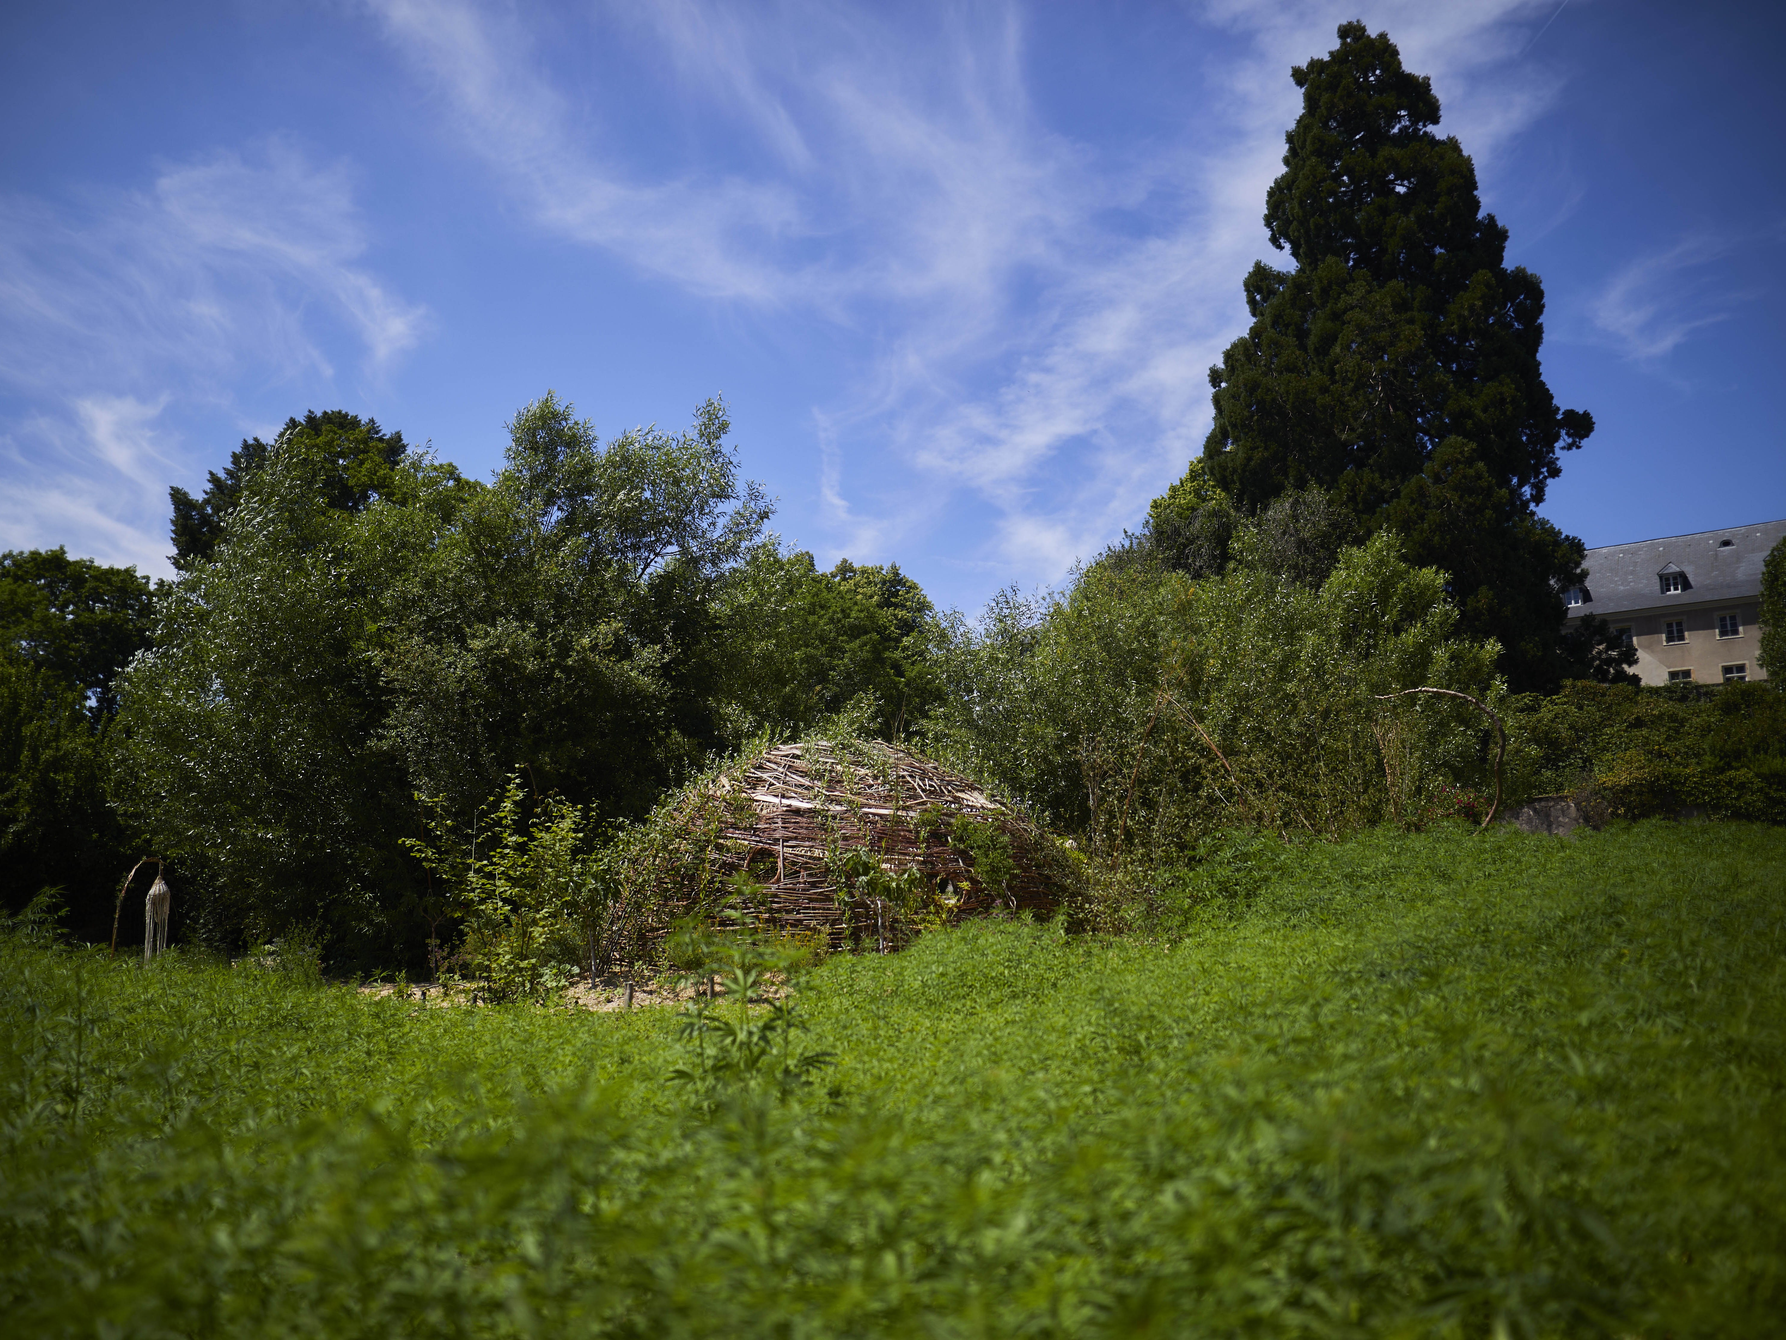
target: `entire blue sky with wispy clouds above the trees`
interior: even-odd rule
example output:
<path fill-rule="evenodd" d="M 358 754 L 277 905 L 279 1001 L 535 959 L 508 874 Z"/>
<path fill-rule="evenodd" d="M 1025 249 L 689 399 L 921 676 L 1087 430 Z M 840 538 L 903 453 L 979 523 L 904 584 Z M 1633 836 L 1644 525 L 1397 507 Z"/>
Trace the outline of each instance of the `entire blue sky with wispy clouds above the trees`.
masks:
<path fill-rule="evenodd" d="M 1786 516 L 1782 5 L 238 0 L 0 18 L 0 545 L 166 574 L 168 484 L 304 409 L 486 475 L 548 388 L 723 391 L 822 563 L 1059 582 L 1198 450 L 1352 16 L 1545 281 L 1545 513 Z"/>

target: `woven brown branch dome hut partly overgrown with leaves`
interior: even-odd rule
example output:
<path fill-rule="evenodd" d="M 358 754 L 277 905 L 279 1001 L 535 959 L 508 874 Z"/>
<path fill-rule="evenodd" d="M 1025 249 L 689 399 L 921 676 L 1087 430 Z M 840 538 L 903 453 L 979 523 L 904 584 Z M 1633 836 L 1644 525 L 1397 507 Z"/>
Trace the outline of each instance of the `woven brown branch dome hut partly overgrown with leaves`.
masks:
<path fill-rule="evenodd" d="M 691 797 L 682 820 L 684 833 L 704 838 L 704 890 L 747 872 L 764 888 L 772 925 L 822 931 L 832 947 L 902 938 L 888 909 L 870 906 L 886 902 L 875 881 L 850 877 L 852 852 L 904 877 L 898 883 L 932 920 L 1000 909 L 1045 915 L 1077 884 L 1073 858 L 1047 831 L 964 777 L 877 740 L 777 745 Z M 998 886 L 975 868 L 998 859 L 988 849 L 1009 859 Z"/>

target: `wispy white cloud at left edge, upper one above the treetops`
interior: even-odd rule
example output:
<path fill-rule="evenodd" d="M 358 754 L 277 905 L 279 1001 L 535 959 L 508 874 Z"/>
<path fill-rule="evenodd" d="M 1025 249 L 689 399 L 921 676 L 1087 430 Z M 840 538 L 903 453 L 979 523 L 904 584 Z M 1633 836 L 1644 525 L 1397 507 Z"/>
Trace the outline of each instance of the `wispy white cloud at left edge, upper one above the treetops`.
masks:
<path fill-rule="evenodd" d="M 0 379 L 68 391 L 243 364 L 329 373 L 318 300 L 379 372 L 427 311 L 359 264 L 364 250 L 346 168 L 279 141 L 166 166 L 146 191 L 0 198 Z"/>

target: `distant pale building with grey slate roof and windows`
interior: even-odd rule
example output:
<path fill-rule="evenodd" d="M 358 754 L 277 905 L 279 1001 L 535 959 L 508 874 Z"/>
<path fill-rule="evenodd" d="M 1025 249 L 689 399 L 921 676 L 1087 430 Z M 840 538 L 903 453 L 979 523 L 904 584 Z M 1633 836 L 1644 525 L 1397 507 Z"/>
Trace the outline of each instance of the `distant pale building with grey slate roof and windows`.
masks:
<path fill-rule="evenodd" d="M 1766 679 L 1756 663 L 1761 563 L 1786 520 L 1590 549 L 1570 618 L 1598 615 L 1638 649 L 1645 684 Z"/>

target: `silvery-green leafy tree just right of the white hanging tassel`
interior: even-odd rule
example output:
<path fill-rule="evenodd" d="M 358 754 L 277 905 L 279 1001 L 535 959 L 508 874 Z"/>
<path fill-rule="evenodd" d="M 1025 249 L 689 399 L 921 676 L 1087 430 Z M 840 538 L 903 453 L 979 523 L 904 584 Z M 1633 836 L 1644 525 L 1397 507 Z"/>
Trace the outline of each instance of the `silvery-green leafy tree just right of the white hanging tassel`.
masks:
<path fill-rule="evenodd" d="M 368 652 L 386 590 L 354 543 L 396 504 L 323 506 L 332 468 L 275 452 L 213 557 L 164 591 L 155 645 L 121 677 L 114 795 L 155 854 L 186 861 L 204 940 L 320 920 L 352 961 L 398 952 L 411 788 L 373 749 L 388 693 Z"/>

